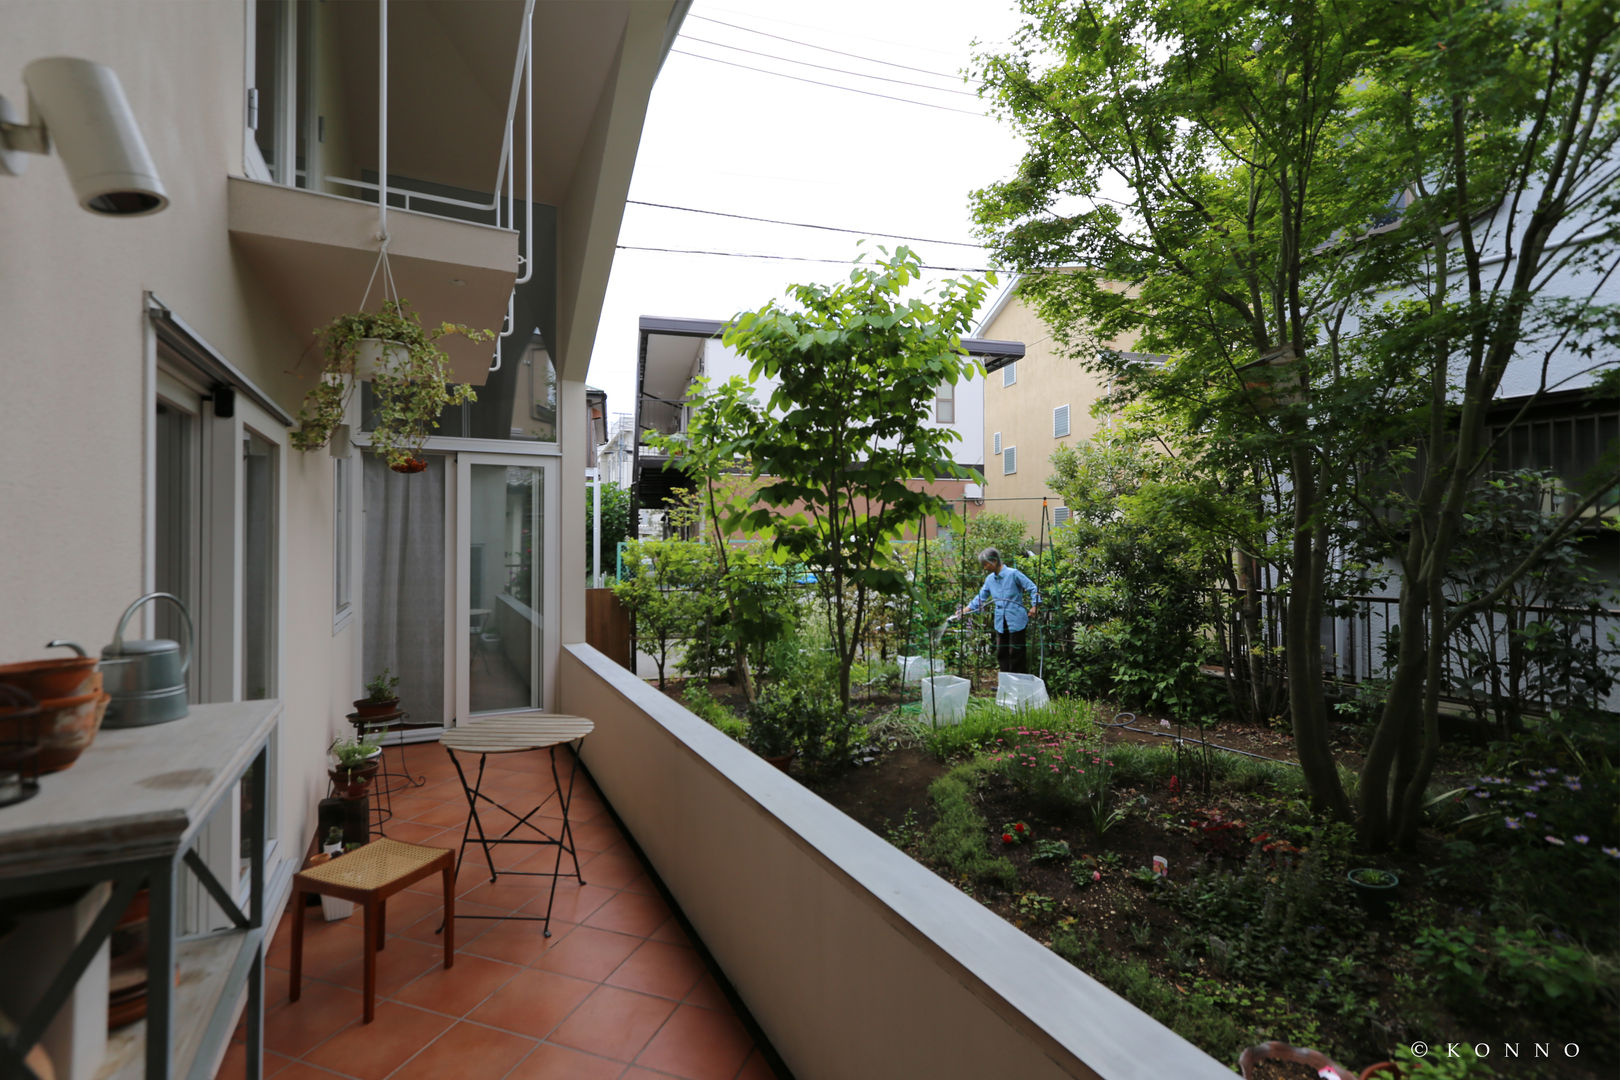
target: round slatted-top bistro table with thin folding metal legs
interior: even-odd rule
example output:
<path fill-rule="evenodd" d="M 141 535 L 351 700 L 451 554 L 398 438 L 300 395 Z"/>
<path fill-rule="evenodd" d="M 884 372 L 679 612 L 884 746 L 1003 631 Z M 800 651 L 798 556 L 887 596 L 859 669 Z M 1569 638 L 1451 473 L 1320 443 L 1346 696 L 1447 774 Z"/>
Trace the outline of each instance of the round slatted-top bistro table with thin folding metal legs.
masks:
<path fill-rule="evenodd" d="M 462 848 L 455 855 L 455 871 L 462 871 L 462 858 L 467 855 L 467 845 L 471 842 L 473 829 L 478 829 L 478 844 L 484 848 L 484 863 L 489 866 L 489 882 L 494 884 L 496 878 L 502 873 L 526 876 L 526 878 L 551 878 L 551 894 L 546 897 L 546 913 L 544 915 L 460 915 L 460 918 L 512 918 L 531 923 L 544 923 L 544 936 L 551 938 L 551 905 L 557 899 L 557 878 L 562 876 L 562 853 L 567 852 L 573 860 L 573 879 L 582 886 L 585 878 L 580 876 L 580 857 L 573 850 L 573 831 L 569 827 L 569 803 L 573 800 L 573 777 L 580 767 L 580 743 L 596 730 L 596 724 L 586 721 L 582 716 L 556 716 L 548 712 L 528 712 L 517 716 L 491 716 L 481 721 L 471 721 L 458 727 L 452 727 L 441 738 L 439 743 L 450 755 L 450 761 L 455 764 L 455 774 L 462 779 L 462 792 L 467 795 L 467 826 L 462 827 Z M 573 751 L 569 758 L 569 787 L 562 789 L 562 780 L 557 776 L 557 746 L 562 743 L 572 743 Z M 514 810 L 502 806 L 499 801 L 484 795 L 484 764 L 489 755 L 505 755 L 505 753 L 523 753 L 528 750 L 549 750 L 551 751 L 551 795 L 546 795 L 539 803 L 530 810 L 526 814 L 518 814 Z M 467 771 L 462 767 L 457 753 L 478 755 L 478 776 L 468 784 Z M 531 819 L 538 814 L 551 800 L 557 800 L 557 810 L 562 814 L 562 826 L 557 829 L 557 836 L 551 836 Z M 484 823 L 478 816 L 478 801 L 483 800 L 499 810 L 501 813 L 514 818 L 512 827 L 497 837 L 491 837 L 484 832 Z M 541 839 L 535 840 L 530 837 L 514 837 L 512 834 L 518 827 L 526 826 L 533 832 L 539 834 Z M 552 863 L 549 871 L 544 870 L 505 870 L 496 871 L 494 857 L 489 848 L 496 844 L 523 844 L 523 845 L 539 845 L 554 844 L 557 847 L 557 860 Z"/>

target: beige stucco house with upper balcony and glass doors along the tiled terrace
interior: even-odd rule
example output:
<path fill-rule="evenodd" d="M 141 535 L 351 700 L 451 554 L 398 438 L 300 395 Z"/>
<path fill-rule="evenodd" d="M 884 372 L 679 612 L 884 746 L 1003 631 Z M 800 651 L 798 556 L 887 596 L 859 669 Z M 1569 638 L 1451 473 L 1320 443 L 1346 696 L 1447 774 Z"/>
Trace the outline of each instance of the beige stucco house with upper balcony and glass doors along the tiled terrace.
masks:
<path fill-rule="evenodd" d="M 193 709 L 280 703 L 262 706 L 280 716 L 271 925 L 366 678 L 392 667 L 434 725 L 564 706 L 559 656 L 585 640 L 585 372 L 685 6 L 0 3 L 16 121 L 31 62 L 107 65 L 168 199 L 126 220 L 81 209 L 65 172 L 78 113 L 52 120 L 53 151 L 0 162 L 0 661 L 53 638 L 94 654 L 134 597 L 180 596 L 196 622 Z M 358 309 L 377 267 L 384 172 L 399 295 L 426 324 L 517 330 L 494 358 L 452 342 L 480 400 L 446 416 L 416 476 L 363 453 L 369 402 L 352 439 L 288 445 L 319 366 L 311 329 Z M 126 633 L 181 636 L 151 612 Z M 504 635 L 510 682 L 470 669 L 480 623 Z M 105 810 L 130 795 L 107 790 Z M 240 827 L 222 814 L 198 842 L 228 891 L 246 881 Z M 181 897 L 190 925 L 215 918 L 201 897 Z M 36 963 L 5 954 L 0 970 L 15 984 Z M 79 997 L 70 1012 L 94 1017 L 81 1028 L 105 1031 L 105 975 L 99 1001 L 94 983 Z"/>

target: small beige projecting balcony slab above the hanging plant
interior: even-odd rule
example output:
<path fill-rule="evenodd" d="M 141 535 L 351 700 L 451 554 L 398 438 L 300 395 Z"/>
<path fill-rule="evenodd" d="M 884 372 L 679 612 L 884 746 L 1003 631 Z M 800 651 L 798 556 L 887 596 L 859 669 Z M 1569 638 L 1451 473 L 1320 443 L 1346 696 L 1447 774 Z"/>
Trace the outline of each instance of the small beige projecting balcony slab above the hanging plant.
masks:
<path fill-rule="evenodd" d="M 232 176 L 230 236 L 296 334 L 360 308 L 377 264 L 371 202 Z M 447 217 L 389 210 L 389 267 L 399 295 L 424 325 L 460 322 L 499 330 L 517 279 L 517 233 Z M 368 309 L 382 300 L 382 277 Z M 483 385 L 494 345 L 442 340 L 457 382 Z"/>

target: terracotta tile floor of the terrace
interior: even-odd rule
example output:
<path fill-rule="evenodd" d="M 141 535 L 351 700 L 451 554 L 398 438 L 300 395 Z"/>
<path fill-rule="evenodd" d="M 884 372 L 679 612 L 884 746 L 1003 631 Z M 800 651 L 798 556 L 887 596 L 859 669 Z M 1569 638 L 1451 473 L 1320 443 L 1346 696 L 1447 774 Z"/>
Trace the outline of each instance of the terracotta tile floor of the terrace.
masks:
<path fill-rule="evenodd" d="M 399 771 L 400 751 L 390 748 Z M 408 764 L 426 785 L 395 795 L 386 832 L 457 847 L 467 801 L 437 745 L 413 745 Z M 465 763 L 465 761 L 463 761 Z M 559 758 L 559 769 L 565 763 Z M 473 763 L 476 769 L 476 761 Z M 564 780 L 567 777 L 564 776 Z M 491 755 L 484 790 L 520 813 L 551 790 L 544 753 Z M 510 801 L 509 801 L 510 800 Z M 548 806 L 552 811 L 554 806 Z M 488 808 L 484 827 L 497 819 Z M 551 938 L 541 923 L 455 923 L 455 967 L 442 967 L 437 878 L 389 900 L 387 947 L 377 954 L 377 1012 L 360 1023 L 360 913 L 327 923 L 306 908 L 305 986 L 287 1001 L 288 912 L 266 957 L 264 1075 L 415 1080 L 774 1080 L 776 1074 L 671 915 L 640 860 L 583 779 L 570 811 L 588 884 L 559 879 Z M 556 836 L 557 818 L 543 823 Z M 497 870 L 551 868 L 556 848 L 494 848 Z M 567 858 L 564 858 L 567 865 Z M 458 915 L 544 913 L 548 878 L 494 884 L 471 847 L 457 879 Z M 230 1046 L 222 1078 L 243 1075 Z"/>

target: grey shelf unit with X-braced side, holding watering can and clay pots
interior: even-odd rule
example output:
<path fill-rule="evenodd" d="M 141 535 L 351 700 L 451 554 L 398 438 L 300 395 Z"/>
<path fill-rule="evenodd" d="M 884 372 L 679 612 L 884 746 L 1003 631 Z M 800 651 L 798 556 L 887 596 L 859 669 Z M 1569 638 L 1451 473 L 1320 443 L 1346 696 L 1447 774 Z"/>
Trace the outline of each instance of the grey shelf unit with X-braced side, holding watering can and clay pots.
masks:
<path fill-rule="evenodd" d="M 32 1075 L 23 1054 L 68 1001 L 141 887 L 149 889 L 146 1020 L 109 1038 L 97 1075 L 212 1077 L 243 991 L 248 1075 L 261 1075 L 264 808 L 271 735 L 280 716 L 279 701 L 237 701 L 193 706 L 188 717 L 168 724 L 100 732 L 71 769 L 44 777 L 37 797 L 0 811 L 0 899 L 112 884 L 112 897 L 45 994 L 10 1040 L 0 1038 L 0 1075 Z M 251 792 L 245 912 L 193 850 L 238 780 Z M 201 881 L 233 929 L 180 939 L 175 897 L 186 873 Z"/>

